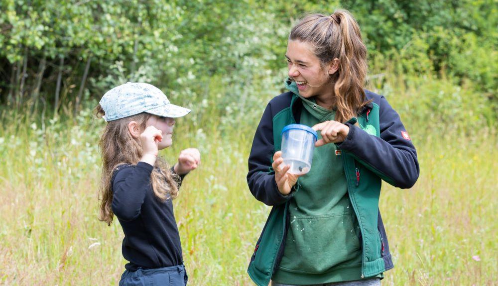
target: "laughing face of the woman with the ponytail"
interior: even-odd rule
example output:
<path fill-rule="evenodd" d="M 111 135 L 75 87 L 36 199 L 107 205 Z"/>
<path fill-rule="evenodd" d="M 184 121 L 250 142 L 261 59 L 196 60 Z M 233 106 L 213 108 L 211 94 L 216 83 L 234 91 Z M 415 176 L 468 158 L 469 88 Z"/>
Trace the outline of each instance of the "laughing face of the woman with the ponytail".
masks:
<path fill-rule="evenodd" d="M 338 67 L 330 64 L 322 67 L 309 43 L 289 40 L 285 57 L 289 77 L 296 82 L 301 96 L 309 98 L 317 95 L 319 98 L 327 98 L 333 95 L 329 75 L 335 73 Z"/>

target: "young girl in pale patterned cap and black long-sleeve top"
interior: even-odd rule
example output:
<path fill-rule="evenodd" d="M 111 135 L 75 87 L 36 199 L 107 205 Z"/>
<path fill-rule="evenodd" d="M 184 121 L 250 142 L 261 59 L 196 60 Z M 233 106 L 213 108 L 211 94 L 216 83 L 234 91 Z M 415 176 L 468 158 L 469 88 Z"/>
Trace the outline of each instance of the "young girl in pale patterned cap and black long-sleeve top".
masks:
<path fill-rule="evenodd" d="M 142 83 L 110 90 L 96 109 L 108 122 L 100 141 L 100 219 L 111 225 L 116 214 L 124 232 L 123 256 L 129 261 L 120 286 L 185 286 L 172 199 L 183 177 L 199 166 L 200 154 L 195 148 L 181 151 L 170 170 L 157 152 L 173 142 L 173 118 L 190 110 Z"/>

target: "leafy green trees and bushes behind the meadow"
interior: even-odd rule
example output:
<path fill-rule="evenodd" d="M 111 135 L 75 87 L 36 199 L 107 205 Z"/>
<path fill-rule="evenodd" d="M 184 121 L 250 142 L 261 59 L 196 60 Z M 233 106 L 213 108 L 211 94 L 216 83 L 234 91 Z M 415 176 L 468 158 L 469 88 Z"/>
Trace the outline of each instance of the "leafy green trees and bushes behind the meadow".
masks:
<path fill-rule="evenodd" d="M 140 81 L 189 105 L 193 122 L 232 122 L 243 111 L 238 123 L 253 123 L 281 90 L 292 23 L 344 7 L 369 48 L 370 88 L 388 95 L 387 78 L 402 76 L 396 84 L 412 89 L 405 117 L 434 119 L 437 128 L 497 118 L 493 0 L 0 3 L 0 104 L 23 114 L 78 112 L 112 87 Z"/>

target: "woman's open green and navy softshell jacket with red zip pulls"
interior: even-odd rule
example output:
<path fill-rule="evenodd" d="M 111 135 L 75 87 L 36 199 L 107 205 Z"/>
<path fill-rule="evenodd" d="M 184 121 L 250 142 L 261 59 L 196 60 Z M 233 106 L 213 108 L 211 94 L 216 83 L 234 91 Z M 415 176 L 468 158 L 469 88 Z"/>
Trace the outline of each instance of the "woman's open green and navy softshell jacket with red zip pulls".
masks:
<path fill-rule="evenodd" d="M 295 93 L 295 83 L 288 80 L 286 87 L 291 92 L 275 96 L 266 106 L 248 160 L 249 190 L 256 199 L 272 206 L 248 267 L 250 278 L 258 286 L 267 286 L 280 270 L 291 227 L 290 203 L 302 187 L 299 179 L 289 195 L 282 195 L 271 168 L 272 156 L 281 147 L 282 129 L 300 123 L 305 108 Z M 357 121 L 359 126 L 354 125 Z M 339 157 L 348 195 L 360 226 L 361 277 L 375 277 L 393 267 L 378 209 L 380 180 L 399 188 L 413 186 L 419 174 L 417 155 L 399 115 L 383 96 L 365 90 L 365 105 L 358 117 L 345 124 L 350 128 L 348 137 L 335 145 L 342 151 Z"/>

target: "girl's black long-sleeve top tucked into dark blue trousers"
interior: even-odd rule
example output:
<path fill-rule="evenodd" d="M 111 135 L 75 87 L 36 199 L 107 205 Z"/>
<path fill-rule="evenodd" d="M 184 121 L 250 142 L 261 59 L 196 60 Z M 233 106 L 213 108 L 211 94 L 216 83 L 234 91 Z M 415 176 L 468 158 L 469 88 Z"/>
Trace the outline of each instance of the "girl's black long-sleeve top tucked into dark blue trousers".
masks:
<path fill-rule="evenodd" d="M 161 268 L 183 264 L 173 202 L 161 202 L 150 184 L 153 167 L 123 165 L 113 174 L 112 209 L 123 227 L 125 268 Z M 180 176 L 178 187 L 184 176 Z"/>

